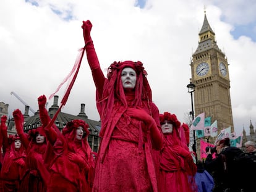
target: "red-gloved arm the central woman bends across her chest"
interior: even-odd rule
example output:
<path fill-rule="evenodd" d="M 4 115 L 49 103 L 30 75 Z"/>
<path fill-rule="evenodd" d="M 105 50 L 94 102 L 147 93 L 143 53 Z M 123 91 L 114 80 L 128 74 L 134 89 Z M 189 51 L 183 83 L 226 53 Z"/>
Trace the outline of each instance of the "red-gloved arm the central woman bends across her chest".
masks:
<path fill-rule="evenodd" d="M 147 130 L 143 131 L 150 131 L 150 136 L 152 138 L 155 148 L 161 149 L 163 146 L 163 138 L 156 125 L 155 120 L 149 114 L 147 114 L 147 112 L 144 109 L 140 107 L 138 107 L 138 109 L 128 108 L 126 112 L 128 115 L 130 115 L 130 117 L 142 120 L 145 123 L 145 125 L 147 126 Z"/>

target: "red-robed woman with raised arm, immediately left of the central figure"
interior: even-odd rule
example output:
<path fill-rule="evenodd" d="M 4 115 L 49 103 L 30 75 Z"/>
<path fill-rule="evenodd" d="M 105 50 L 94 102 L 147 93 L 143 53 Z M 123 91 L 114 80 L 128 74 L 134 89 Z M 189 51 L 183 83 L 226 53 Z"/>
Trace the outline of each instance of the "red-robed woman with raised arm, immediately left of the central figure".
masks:
<path fill-rule="evenodd" d="M 56 128 L 47 126 L 51 119 L 45 104 L 46 97 L 42 95 L 38 98 L 40 119 L 54 152 L 49 167 L 48 192 L 91 191 L 91 178 L 88 177 L 93 166 L 93 156 L 87 141 L 88 124 L 84 120 L 75 119 L 68 122 L 62 133 L 59 133 Z"/>

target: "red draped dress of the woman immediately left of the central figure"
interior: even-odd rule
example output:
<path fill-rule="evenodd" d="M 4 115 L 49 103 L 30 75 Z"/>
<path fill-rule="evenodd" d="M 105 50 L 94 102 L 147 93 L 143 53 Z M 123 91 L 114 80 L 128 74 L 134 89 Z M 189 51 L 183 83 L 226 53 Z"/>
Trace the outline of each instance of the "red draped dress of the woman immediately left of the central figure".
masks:
<path fill-rule="evenodd" d="M 75 136 L 75 128 L 73 128 L 70 135 Z M 56 132 L 53 128 L 46 131 L 49 140 L 54 141 L 56 138 Z M 54 135 L 55 134 L 55 135 Z M 74 138 L 73 136 L 73 138 Z M 50 169 L 50 180 L 48 192 L 56 191 L 69 191 L 69 192 L 89 192 L 90 183 L 88 178 L 88 172 L 90 169 L 90 163 L 92 159 L 91 149 L 88 146 L 87 139 L 82 140 L 67 140 L 63 135 L 58 135 L 57 140 L 53 144 L 54 157 Z M 77 163 L 70 161 L 69 153 L 75 153 L 79 155 L 83 162 Z"/>

